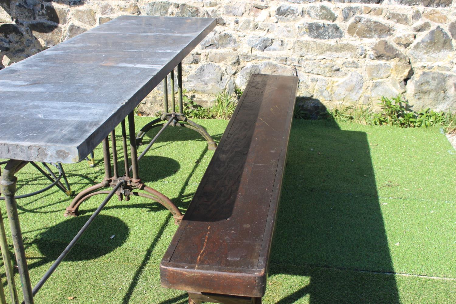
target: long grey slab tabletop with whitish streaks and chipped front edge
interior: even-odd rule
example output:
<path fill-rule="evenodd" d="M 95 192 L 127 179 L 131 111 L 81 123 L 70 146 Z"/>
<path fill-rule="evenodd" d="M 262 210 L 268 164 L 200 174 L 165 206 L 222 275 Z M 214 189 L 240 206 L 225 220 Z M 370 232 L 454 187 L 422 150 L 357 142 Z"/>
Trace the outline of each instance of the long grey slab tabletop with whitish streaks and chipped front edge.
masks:
<path fill-rule="evenodd" d="M 216 25 L 121 16 L 0 71 L 0 158 L 83 160 Z"/>

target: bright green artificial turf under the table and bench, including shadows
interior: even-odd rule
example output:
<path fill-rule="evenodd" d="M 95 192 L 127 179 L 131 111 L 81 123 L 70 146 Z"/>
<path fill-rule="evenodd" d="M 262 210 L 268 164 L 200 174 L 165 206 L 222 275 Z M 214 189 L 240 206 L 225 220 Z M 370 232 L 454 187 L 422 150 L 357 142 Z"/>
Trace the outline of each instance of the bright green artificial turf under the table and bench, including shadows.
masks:
<path fill-rule="evenodd" d="M 139 129 L 150 118 L 136 121 Z M 197 122 L 216 140 L 228 123 Z M 199 134 L 170 128 L 141 160 L 140 175 L 185 211 L 212 155 Z M 74 191 L 102 179 L 101 147 L 95 157 L 95 168 L 64 166 Z M 47 184 L 30 165 L 18 178 L 19 193 Z M 264 303 L 455 303 L 455 190 L 456 151 L 438 128 L 296 120 Z M 70 199 L 57 188 L 18 201 L 32 282 L 102 198 L 84 202 L 77 218 L 62 216 Z M 187 303 L 184 292 L 160 287 L 159 263 L 175 231 L 160 205 L 113 198 L 36 303 Z"/>

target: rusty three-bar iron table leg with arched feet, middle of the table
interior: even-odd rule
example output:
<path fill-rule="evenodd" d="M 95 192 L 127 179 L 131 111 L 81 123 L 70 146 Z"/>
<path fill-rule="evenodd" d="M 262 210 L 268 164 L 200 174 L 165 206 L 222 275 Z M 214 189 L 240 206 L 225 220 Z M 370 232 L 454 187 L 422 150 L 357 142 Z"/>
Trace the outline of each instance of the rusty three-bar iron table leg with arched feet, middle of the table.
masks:
<path fill-rule="evenodd" d="M 150 200 L 156 201 L 161 205 L 165 206 L 174 217 L 174 221 L 176 224 L 179 224 L 182 219 L 181 211 L 172 203 L 172 201 L 165 196 L 164 194 L 146 186 L 139 177 L 139 170 L 138 170 L 138 161 L 144 155 L 140 155 L 138 157 L 137 148 L 136 148 L 136 138 L 135 138 L 135 116 L 133 112 L 128 115 L 129 120 L 129 131 L 130 131 L 130 155 L 131 155 L 131 166 L 129 165 L 128 161 L 128 150 L 127 150 L 127 134 L 125 130 L 125 121 L 122 121 L 121 128 L 122 128 L 122 144 L 123 144 L 123 153 L 124 153 L 124 170 L 125 174 L 119 174 L 119 168 L 117 165 L 117 147 L 115 142 L 115 133 L 114 131 L 111 132 L 111 145 L 112 145 L 112 166 L 111 166 L 111 159 L 110 159 L 110 149 L 109 149 L 109 139 L 106 137 L 103 140 L 103 155 L 104 155 L 104 179 L 101 183 L 97 185 L 93 185 L 81 193 L 79 193 L 73 201 L 71 202 L 70 206 L 67 207 L 64 216 L 78 216 L 78 209 L 79 206 L 83 203 L 83 201 L 87 200 L 89 197 L 98 195 L 98 194 L 108 194 L 110 191 L 101 190 L 103 188 L 114 187 L 118 185 L 120 182 L 119 188 L 115 191 L 119 198 L 119 201 L 125 200 L 129 201 L 130 196 L 141 196 L 148 198 Z M 169 123 L 169 122 L 168 122 Z M 165 126 L 166 127 L 166 126 Z M 162 130 L 161 130 L 162 131 Z M 159 132 L 161 133 L 161 132 Z M 159 134 L 157 134 L 158 136 Z M 130 174 L 131 171 L 131 174 Z M 135 192 L 133 190 L 138 189 L 149 194 Z"/>

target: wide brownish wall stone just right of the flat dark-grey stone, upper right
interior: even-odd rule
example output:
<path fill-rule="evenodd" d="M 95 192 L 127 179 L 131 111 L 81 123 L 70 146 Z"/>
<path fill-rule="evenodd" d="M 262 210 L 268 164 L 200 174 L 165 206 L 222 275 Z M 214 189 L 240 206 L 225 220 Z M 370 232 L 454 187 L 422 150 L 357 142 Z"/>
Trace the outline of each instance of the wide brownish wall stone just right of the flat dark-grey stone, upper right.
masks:
<path fill-rule="evenodd" d="M 361 38 L 384 38 L 393 34 L 393 29 L 379 21 L 356 16 L 350 23 L 347 33 Z"/>

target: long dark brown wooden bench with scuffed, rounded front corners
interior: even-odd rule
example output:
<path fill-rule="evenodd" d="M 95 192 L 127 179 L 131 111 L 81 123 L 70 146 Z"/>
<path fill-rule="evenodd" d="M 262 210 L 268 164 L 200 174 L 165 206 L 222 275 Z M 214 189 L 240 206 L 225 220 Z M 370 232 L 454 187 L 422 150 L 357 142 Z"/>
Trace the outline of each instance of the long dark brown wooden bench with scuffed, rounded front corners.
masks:
<path fill-rule="evenodd" d="M 261 303 L 298 78 L 254 74 L 160 264 L 189 303 Z"/>

